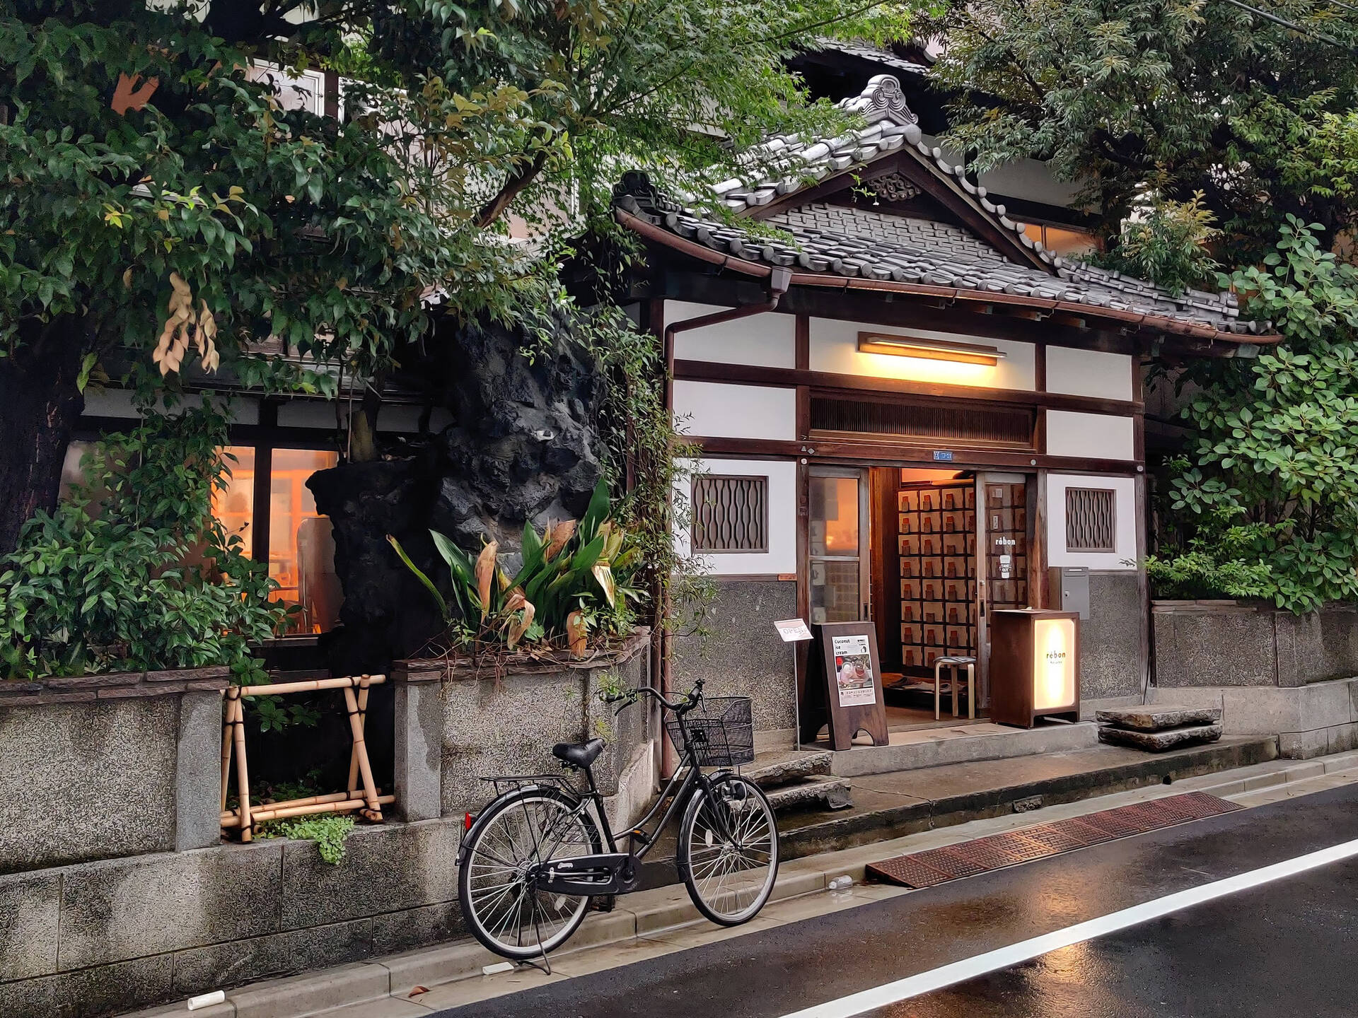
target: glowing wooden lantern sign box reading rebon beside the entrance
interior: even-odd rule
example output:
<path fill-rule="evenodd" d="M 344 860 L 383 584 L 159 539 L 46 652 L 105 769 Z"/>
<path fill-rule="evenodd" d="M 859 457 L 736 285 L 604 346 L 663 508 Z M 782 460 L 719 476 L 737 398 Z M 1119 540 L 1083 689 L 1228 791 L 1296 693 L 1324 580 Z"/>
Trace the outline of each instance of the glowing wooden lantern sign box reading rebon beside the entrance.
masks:
<path fill-rule="evenodd" d="M 990 719 L 1032 728 L 1046 717 L 1080 719 L 1080 612 L 991 612 Z"/>

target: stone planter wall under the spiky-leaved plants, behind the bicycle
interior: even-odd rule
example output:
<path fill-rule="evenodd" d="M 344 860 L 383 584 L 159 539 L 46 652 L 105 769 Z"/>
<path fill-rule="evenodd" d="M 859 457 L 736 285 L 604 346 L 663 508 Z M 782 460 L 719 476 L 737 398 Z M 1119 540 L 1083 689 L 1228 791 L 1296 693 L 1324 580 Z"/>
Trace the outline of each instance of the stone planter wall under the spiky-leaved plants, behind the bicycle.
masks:
<path fill-rule="evenodd" d="M 633 783 L 650 783 L 653 710 L 638 703 L 615 718 L 598 692 L 610 673 L 625 685 L 645 685 L 649 645 L 650 631 L 638 630 L 606 657 L 500 672 L 460 662 L 395 662 L 397 809 L 405 820 L 477 810 L 494 797 L 483 776 L 559 774 L 551 747 L 595 736 L 608 744 L 593 766 L 599 790 L 630 801 Z"/>

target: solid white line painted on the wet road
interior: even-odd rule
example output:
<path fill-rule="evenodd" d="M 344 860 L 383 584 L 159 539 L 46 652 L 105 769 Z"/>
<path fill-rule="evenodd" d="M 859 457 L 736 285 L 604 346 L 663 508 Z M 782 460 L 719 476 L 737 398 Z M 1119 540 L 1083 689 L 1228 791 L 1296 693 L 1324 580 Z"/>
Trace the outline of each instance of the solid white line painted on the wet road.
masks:
<path fill-rule="evenodd" d="M 999 969 L 1006 969 L 1010 965 L 1031 961 L 1032 958 L 1054 951 L 1059 947 L 1069 947 L 1073 943 L 1092 941 L 1095 937 L 1103 937 L 1104 934 L 1118 932 L 1119 930 L 1126 930 L 1127 927 L 1137 926 L 1138 923 L 1160 919 L 1171 912 L 1177 912 L 1191 905 L 1200 905 L 1203 901 L 1214 901 L 1218 897 L 1226 897 L 1228 894 L 1236 894 L 1241 890 L 1258 888 L 1262 884 L 1271 884 L 1275 880 L 1283 880 L 1285 877 L 1293 877 L 1298 873 L 1305 873 L 1306 870 L 1328 866 L 1329 863 L 1342 862 L 1343 859 L 1351 859 L 1355 855 L 1358 855 L 1358 840 L 1344 842 L 1343 844 L 1336 844 L 1329 848 L 1321 848 L 1317 852 L 1298 855 L 1296 859 L 1286 859 L 1283 862 L 1277 862 L 1272 866 L 1263 866 L 1262 869 L 1251 870 L 1249 873 L 1241 873 L 1236 877 L 1226 877 L 1225 880 L 1213 881 L 1211 884 L 1203 884 L 1200 888 L 1190 888 L 1188 890 L 1180 890 L 1175 894 L 1167 894 L 1165 897 L 1156 899 L 1154 901 L 1133 905 L 1131 908 L 1124 908 L 1120 912 L 1112 912 L 1109 915 L 1100 916 L 1099 919 L 1076 923 L 1074 926 L 1067 926 L 1065 930 L 1057 930 L 1055 932 L 1033 937 L 1028 941 L 1020 941 L 1019 943 L 1012 943 L 1008 947 L 999 947 L 993 951 L 986 951 L 985 954 L 978 954 L 974 958 L 964 958 L 963 961 L 955 961 L 951 965 L 942 965 L 929 972 L 921 972 L 915 976 L 898 979 L 894 983 L 885 983 L 872 989 L 864 989 L 858 994 L 842 996 L 838 1000 L 830 1000 L 815 1007 L 807 1007 L 801 1011 L 786 1014 L 784 1018 L 850 1018 L 850 1015 L 864 1014 L 865 1011 L 872 1011 L 877 1007 L 885 1007 L 887 1004 L 894 1004 L 898 1000 L 907 1000 L 913 996 L 919 996 L 921 994 L 929 994 L 934 989 L 942 989 L 944 987 L 951 987 L 956 983 L 964 983 L 966 980 L 975 979 L 976 976 L 985 976 L 987 972 L 997 972 Z"/>

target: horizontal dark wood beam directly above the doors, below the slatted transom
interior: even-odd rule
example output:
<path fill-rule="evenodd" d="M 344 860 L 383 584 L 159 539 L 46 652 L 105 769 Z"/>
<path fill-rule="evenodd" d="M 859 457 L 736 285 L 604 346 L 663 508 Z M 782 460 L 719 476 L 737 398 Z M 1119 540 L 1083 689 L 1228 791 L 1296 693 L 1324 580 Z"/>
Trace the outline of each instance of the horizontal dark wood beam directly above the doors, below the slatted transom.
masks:
<path fill-rule="evenodd" d="M 686 441 L 702 447 L 703 456 L 758 456 L 762 459 L 794 459 L 815 456 L 818 463 L 843 460 L 845 463 L 872 463 L 876 466 L 938 468 L 934 449 L 953 453 L 948 461 L 952 470 L 1051 470 L 1070 474 L 1109 474 L 1135 476 L 1142 464 L 1134 460 L 1100 460 L 1084 456 L 1047 456 L 1031 452 L 1006 452 L 975 448 L 963 444 L 919 445 L 895 442 L 846 442 L 835 440 L 781 441 L 777 438 L 708 438 L 684 436 Z"/>

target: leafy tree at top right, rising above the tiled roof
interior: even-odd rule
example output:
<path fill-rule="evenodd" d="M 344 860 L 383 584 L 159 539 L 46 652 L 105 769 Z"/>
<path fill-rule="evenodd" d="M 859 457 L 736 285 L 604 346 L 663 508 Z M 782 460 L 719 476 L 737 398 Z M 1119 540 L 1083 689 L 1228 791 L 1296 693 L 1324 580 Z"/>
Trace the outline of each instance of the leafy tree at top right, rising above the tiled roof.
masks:
<path fill-rule="evenodd" d="M 1111 232 L 1148 185 L 1205 206 L 1240 261 L 1285 216 L 1353 225 L 1358 11 L 1228 0 L 982 0 L 933 23 L 951 138 L 982 168 L 1050 160 Z"/>

